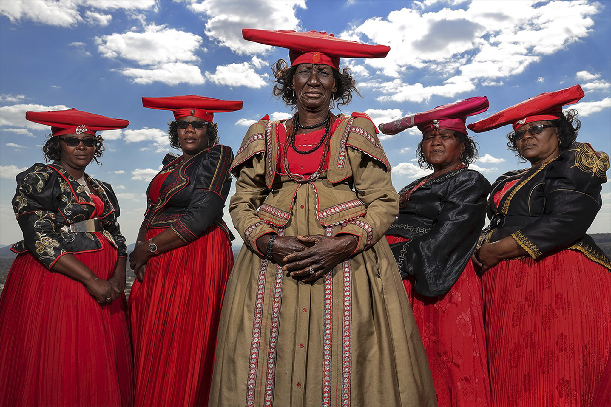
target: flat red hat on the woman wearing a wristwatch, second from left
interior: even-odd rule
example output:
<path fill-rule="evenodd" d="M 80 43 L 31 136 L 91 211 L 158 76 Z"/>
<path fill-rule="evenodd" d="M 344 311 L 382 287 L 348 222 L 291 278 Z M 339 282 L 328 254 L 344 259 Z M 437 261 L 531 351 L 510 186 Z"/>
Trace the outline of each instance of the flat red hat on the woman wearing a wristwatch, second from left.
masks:
<path fill-rule="evenodd" d="M 142 96 L 142 106 L 150 109 L 172 110 L 176 120 L 181 117 L 194 116 L 212 123 L 214 113 L 240 110 L 242 101 L 207 98 L 199 95 L 165 96 L 163 98 Z"/>

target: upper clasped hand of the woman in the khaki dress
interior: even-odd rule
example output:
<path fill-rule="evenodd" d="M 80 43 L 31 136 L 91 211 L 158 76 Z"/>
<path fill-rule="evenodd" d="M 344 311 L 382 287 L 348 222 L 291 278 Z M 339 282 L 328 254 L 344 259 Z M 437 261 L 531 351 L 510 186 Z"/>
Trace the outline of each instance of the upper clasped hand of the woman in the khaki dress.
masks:
<path fill-rule="evenodd" d="M 354 253 L 357 245 L 354 236 L 349 234 L 336 237 L 298 236 L 297 240 L 309 248 L 286 256 L 282 259 L 285 262 L 282 268 L 288 272 L 288 276 L 302 279 L 304 283 L 313 283 L 330 272 Z"/>

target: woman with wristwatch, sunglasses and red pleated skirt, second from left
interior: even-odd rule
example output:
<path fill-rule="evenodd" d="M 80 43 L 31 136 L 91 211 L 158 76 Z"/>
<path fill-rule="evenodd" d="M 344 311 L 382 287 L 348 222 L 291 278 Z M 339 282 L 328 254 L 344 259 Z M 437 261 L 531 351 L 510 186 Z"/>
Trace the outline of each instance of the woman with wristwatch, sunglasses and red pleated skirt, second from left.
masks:
<path fill-rule="evenodd" d="M 201 406 L 208 401 L 232 238 L 222 220 L 233 153 L 219 144 L 214 112 L 242 101 L 186 95 L 142 98 L 172 110 L 168 154 L 147 189 L 147 211 L 130 254 L 136 406 Z"/>

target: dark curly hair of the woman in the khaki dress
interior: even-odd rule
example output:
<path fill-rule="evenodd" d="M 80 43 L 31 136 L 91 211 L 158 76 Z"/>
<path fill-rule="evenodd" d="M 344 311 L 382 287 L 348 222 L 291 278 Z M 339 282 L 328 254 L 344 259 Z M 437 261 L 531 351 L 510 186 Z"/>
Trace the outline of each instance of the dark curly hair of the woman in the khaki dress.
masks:
<path fill-rule="evenodd" d="M 295 89 L 293 89 L 293 75 L 297 67 L 298 65 L 289 67 L 287 62 L 282 58 L 271 66 L 271 71 L 274 74 L 274 78 L 276 78 L 271 79 L 270 77 L 269 79 L 271 82 L 276 82 L 272 92 L 274 96 L 281 96 L 287 106 L 296 106 L 297 104 L 297 96 L 295 95 Z M 339 107 L 350 103 L 352 100 L 352 92 L 356 92 L 357 95 L 361 96 L 359 90 L 356 88 L 356 82 L 352 77 L 351 71 L 348 68 L 343 68 L 341 72 L 333 69 L 333 79 L 335 79 L 337 90 L 331 95 L 331 109 L 335 106 Z"/>

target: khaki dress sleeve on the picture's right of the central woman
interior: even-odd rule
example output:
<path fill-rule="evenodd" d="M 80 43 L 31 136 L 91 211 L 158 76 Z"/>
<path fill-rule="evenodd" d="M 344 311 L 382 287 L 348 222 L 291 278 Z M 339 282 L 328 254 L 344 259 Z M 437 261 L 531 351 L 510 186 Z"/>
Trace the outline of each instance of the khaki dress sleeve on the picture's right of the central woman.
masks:
<path fill-rule="evenodd" d="M 353 254 L 378 242 L 399 212 L 399 195 L 392 186 L 390 165 L 375 135 L 373 123 L 359 118 L 354 120 L 354 124 L 356 131 L 351 132 L 346 154 L 352 171 L 354 191 L 367 207 L 367 212 L 350 221 L 336 234 L 351 234 L 359 238 Z M 359 133 L 368 137 L 359 137 Z"/>

